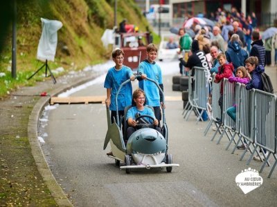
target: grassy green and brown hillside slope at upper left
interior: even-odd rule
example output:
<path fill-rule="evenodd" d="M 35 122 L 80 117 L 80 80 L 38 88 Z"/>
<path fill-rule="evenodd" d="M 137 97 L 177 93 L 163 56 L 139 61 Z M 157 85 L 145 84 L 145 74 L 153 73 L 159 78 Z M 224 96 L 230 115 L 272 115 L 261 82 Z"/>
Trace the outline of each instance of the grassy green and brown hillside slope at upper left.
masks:
<path fill-rule="evenodd" d="M 100 38 L 105 29 L 114 26 L 115 0 L 22 0 L 17 1 L 17 80 L 10 78 L 11 68 L 11 26 L 0 55 L 0 72 L 8 79 L 4 84 L 0 77 L 0 96 L 6 90 L 18 85 L 33 84 L 26 81 L 42 62 L 37 61 L 37 46 L 42 34 L 40 18 L 56 19 L 63 26 L 57 32 L 58 43 L 55 62 L 50 67 L 62 66 L 65 70 L 78 70 L 109 59 L 111 47 L 104 48 Z M 128 23 L 145 31 L 148 23 L 134 0 L 117 0 L 117 21 L 127 19 Z M 35 77 L 41 80 L 42 77 Z M 1 94 L 2 93 L 2 94 Z"/>

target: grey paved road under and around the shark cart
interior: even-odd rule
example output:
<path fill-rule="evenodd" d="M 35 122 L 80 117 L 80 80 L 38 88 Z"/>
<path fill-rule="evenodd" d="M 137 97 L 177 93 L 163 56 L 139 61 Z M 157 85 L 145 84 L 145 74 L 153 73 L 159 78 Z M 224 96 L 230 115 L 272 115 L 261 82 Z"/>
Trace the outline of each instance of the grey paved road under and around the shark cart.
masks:
<path fill-rule="evenodd" d="M 171 90 L 172 75 L 177 74 L 177 62 L 171 74 L 164 76 L 165 93 L 181 96 Z M 268 73 L 277 89 L 276 68 Z M 103 95 L 98 82 L 74 96 Z M 213 132 L 204 137 L 206 122 L 195 124 L 195 117 L 184 121 L 183 103 L 166 103 L 169 128 L 169 152 L 173 162 L 180 164 L 172 173 L 166 170 L 136 170 L 126 175 L 116 168 L 114 160 L 105 155 L 102 146 L 107 131 L 105 106 L 102 104 L 60 105 L 45 113 L 47 126 L 44 154 L 58 183 L 75 206 L 276 206 L 277 172 L 267 179 L 269 168 L 260 174 L 263 184 L 247 195 L 235 184 L 235 177 L 245 168 L 260 169 L 261 163 L 246 158 L 239 161 L 241 151 L 231 155 L 210 141 Z"/>

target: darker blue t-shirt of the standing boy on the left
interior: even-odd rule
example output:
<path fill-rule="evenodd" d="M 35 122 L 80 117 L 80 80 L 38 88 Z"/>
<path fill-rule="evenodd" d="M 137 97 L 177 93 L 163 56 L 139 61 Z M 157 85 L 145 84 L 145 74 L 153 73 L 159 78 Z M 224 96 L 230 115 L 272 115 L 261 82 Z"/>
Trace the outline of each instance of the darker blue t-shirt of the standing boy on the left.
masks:
<path fill-rule="evenodd" d="M 111 88 L 111 105 L 109 110 L 116 110 L 116 92 L 118 91 L 121 83 L 127 81 L 133 72 L 131 68 L 123 66 L 120 70 L 116 68 L 110 68 L 107 72 L 107 76 L 104 83 L 104 88 Z M 132 103 L 132 84 L 126 83 L 118 94 L 118 110 L 124 110 L 125 106 L 129 106 Z"/>

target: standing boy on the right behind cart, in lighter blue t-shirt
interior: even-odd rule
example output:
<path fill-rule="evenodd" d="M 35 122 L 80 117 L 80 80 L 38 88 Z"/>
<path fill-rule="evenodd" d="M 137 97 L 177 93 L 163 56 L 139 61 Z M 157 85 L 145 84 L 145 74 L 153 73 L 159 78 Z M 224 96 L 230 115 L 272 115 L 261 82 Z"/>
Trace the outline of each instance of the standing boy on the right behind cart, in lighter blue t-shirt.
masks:
<path fill-rule="evenodd" d="M 163 77 L 161 75 L 161 68 L 155 62 L 155 59 L 157 58 L 157 52 L 157 47 L 153 43 L 150 43 L 146 48 L 147 59 L 139 64 L 138 72 L 142 74 L 141 78 L 143 79 L 139 81 L 139 88 L 145 92 L 147 98 L 146 103 L 154 108 L 155 117 L 160 122 L 161 107 L 163 107 L 163 97 L 159 92 L 159 88 L 154 83 L 144 80 L 146 77 L 153 79 L 159 84 L 161 90 L 163 90 Z"/>

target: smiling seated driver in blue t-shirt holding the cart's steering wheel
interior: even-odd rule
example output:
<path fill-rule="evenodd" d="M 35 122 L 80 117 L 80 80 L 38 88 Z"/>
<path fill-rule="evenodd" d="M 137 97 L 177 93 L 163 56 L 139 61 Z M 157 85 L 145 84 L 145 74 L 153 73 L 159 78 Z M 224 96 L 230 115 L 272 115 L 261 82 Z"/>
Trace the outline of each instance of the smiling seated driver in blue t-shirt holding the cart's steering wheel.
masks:
<path fill-rule="evenodd" d="M 127 140 L 137 130 L 139 123 L 152 124 L 154 129 L 161 132 L 161 129 L 158 127 L 159 121 L 156 119 L 154 112 L 151 108 L 145 107 L 145 93 L 141 89 L 136 89 L 133 93 L 133 101 L 136 103 L 136 106 L 129 108 L 126 115 L 126 120 L 128 124 L 127 128 Z M 150 117 L 139 118 L 143 115 L 148 115 Z M 139 119 L 138 119 L 139 118 Z M 146 126 L 146 125 L 145 125 Z"/>

